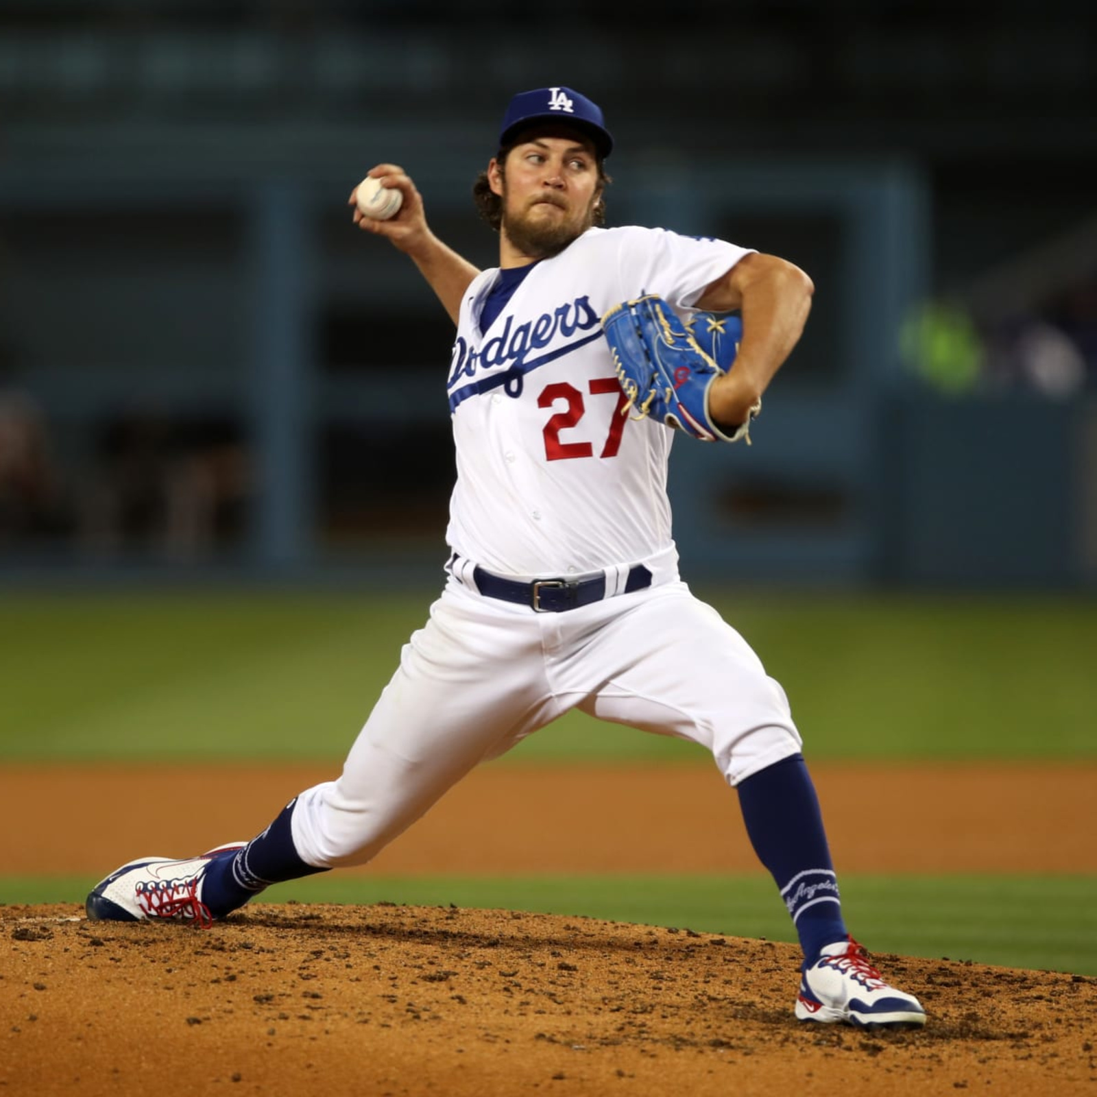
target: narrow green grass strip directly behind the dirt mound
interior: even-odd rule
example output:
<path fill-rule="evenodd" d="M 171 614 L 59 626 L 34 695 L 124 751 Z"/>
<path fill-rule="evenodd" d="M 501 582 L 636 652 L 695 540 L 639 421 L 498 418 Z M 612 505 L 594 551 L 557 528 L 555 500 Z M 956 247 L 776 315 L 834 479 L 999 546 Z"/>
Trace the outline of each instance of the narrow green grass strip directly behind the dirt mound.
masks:
<path fill-rule="evenodd" d="M 0 879 L 7 903 L 78 903 L 94 883 Z M 1097 975 L 1097 877 L 870 877 L 842 879 L 852 932 L 874 952 L 974 960 Z M 761 874 L 685 877 L 312 877 L 271 887 L 263 902 L 357 903 L 534 911 L 699 932 L 793 941 Z"/>

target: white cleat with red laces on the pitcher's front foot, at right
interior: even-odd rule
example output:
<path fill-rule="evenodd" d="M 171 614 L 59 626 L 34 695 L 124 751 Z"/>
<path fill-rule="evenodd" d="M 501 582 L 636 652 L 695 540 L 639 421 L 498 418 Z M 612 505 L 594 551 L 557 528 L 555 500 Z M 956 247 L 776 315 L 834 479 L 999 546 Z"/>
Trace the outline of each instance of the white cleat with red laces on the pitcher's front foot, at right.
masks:
<path fill-rule="evenodd" d="M 913 994 L 889 986 L 851 937 L 828 945 L 815 963 L 803 968 L 796 1017 L 802 1021 L 860 1028 L 916 1028 L 926 1010 Z"/>

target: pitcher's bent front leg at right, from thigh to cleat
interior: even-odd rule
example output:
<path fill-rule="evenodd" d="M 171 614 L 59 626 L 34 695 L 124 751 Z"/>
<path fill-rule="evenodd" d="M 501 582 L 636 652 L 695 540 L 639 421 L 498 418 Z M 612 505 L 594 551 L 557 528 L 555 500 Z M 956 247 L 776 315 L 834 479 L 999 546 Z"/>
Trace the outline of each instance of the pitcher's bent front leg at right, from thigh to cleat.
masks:
<path fill-rule="evenodd" d="M 711 607 L 675 584 L 635 598 L 584 651 L 593 682 L 579 706 L 712 751 L 736 788 L 748 837 L 772 874 L 804 954 L 796 1016 L 920 1025 L 849 937 L 818 799 L 784 690 Z M 581 679 L 575 688 L 581 689 Z"/>

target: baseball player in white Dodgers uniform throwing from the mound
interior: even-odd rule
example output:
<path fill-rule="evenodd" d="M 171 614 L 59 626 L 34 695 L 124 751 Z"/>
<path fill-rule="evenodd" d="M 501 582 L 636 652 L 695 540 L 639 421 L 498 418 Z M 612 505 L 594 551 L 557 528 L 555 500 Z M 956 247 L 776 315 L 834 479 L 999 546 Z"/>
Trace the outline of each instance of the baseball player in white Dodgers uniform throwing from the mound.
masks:
<path fill-rule="evenodd" d="M 268 884 L 369 861 L 478 762 L 578 708 L 712 753 L 800 937 L 798 1018 L 925 1022 L 846 929 L 784 691 L 679 578 L 671 536 L 672 428 L 747 437 L 812 283 L 723 240 L 601 227 L 612 147 L 578 92 L 514 95 L 474 186 L 499 237 L 485 271 L 433 236 L 402 168 L 371 170 L 402 207 L 355 224 L 409 256 L 456 324 L 444 589 L 338 779 L 249 842 L 122 866 L 89 918 L 208 925 Z M 721 349 L 732 313 L 738 346 Z"/>

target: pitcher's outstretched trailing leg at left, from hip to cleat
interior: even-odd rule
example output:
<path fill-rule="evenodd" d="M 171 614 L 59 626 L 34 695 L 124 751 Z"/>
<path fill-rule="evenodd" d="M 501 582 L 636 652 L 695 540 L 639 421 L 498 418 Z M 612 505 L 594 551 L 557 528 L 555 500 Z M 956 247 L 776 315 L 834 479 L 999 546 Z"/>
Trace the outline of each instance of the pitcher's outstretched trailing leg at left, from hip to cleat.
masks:
<path fill-rule="evenodd" d="M 448 590 L 404 646 L 338 780 L 301 793 L 250 842 L 127 862 L 92 890 L 88 917 L 208 925 L 269 884 L 362 864 L 478 761 L 557 715 L 551 693 L 536 619 Z"/>

